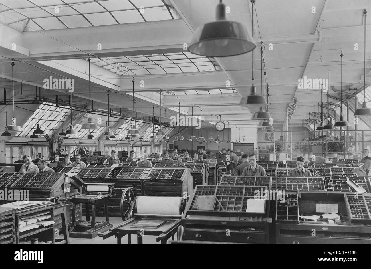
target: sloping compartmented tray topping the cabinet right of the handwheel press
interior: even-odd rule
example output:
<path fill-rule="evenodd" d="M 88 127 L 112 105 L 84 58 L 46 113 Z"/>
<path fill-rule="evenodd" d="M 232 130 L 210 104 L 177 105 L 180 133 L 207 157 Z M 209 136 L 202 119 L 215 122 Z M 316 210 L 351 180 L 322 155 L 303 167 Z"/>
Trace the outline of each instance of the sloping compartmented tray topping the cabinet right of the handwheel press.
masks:
<path fill-rule="evenodd" d="M 196 187 L 190 211 L 245 212 L 247 199 L 255 196 L 255 190 L 267 190 L 266 186 L 200 186 Z M 266 200 L 265 200 L 266 201 Z M 246 213 L 246 214 L 265 214 Z"/>

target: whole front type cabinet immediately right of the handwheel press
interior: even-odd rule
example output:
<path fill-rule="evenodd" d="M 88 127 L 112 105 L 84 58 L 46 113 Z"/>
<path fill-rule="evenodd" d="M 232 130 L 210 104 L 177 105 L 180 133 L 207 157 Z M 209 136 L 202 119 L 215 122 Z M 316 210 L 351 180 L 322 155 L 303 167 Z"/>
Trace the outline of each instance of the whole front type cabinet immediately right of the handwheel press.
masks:
<path fill-rule="evenodd" d="M 246 212 L 247 199 L 261 189 L 266 186 L 196 186 L 182 217 L 183 239 L 268 243 L 269 200 L 264 200 L 265 212 Z"/>

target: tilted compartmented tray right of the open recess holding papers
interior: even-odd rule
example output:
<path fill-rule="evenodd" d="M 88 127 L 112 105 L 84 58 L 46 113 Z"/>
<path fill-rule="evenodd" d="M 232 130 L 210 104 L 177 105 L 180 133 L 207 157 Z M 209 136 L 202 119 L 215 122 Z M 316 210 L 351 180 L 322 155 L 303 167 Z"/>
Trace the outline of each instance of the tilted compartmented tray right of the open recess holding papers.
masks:
<path fill-rule="evenodd" d="M 347 193 L 347 206 L 351 223 L 371 223 L 371 194 Z"/>

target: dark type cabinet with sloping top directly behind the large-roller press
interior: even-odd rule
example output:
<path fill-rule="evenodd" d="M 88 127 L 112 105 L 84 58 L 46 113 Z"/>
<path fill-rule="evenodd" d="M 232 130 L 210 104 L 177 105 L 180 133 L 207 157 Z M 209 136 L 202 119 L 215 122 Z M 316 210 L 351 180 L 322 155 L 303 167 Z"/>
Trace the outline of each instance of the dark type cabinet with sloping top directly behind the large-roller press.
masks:
<path fill-rule="evenodd" d="M 144 180 L 146 196 L 187 196 L 193 193 L 193 177 L 185 167 L 152 168 Z"/>

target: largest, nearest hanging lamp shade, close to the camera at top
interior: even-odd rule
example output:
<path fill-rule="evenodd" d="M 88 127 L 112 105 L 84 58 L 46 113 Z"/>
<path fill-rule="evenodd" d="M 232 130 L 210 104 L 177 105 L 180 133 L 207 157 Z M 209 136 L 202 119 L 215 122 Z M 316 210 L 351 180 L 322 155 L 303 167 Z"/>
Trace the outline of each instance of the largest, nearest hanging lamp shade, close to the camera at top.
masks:
<path fill-rule="evenodd" d="M 207 57 L 224 57 L 247 53 L 255 47 L 246 26 L 226 20 L 226 7 L 219 3 L 216 21 L 197 27 L 188 50 Z"/>

